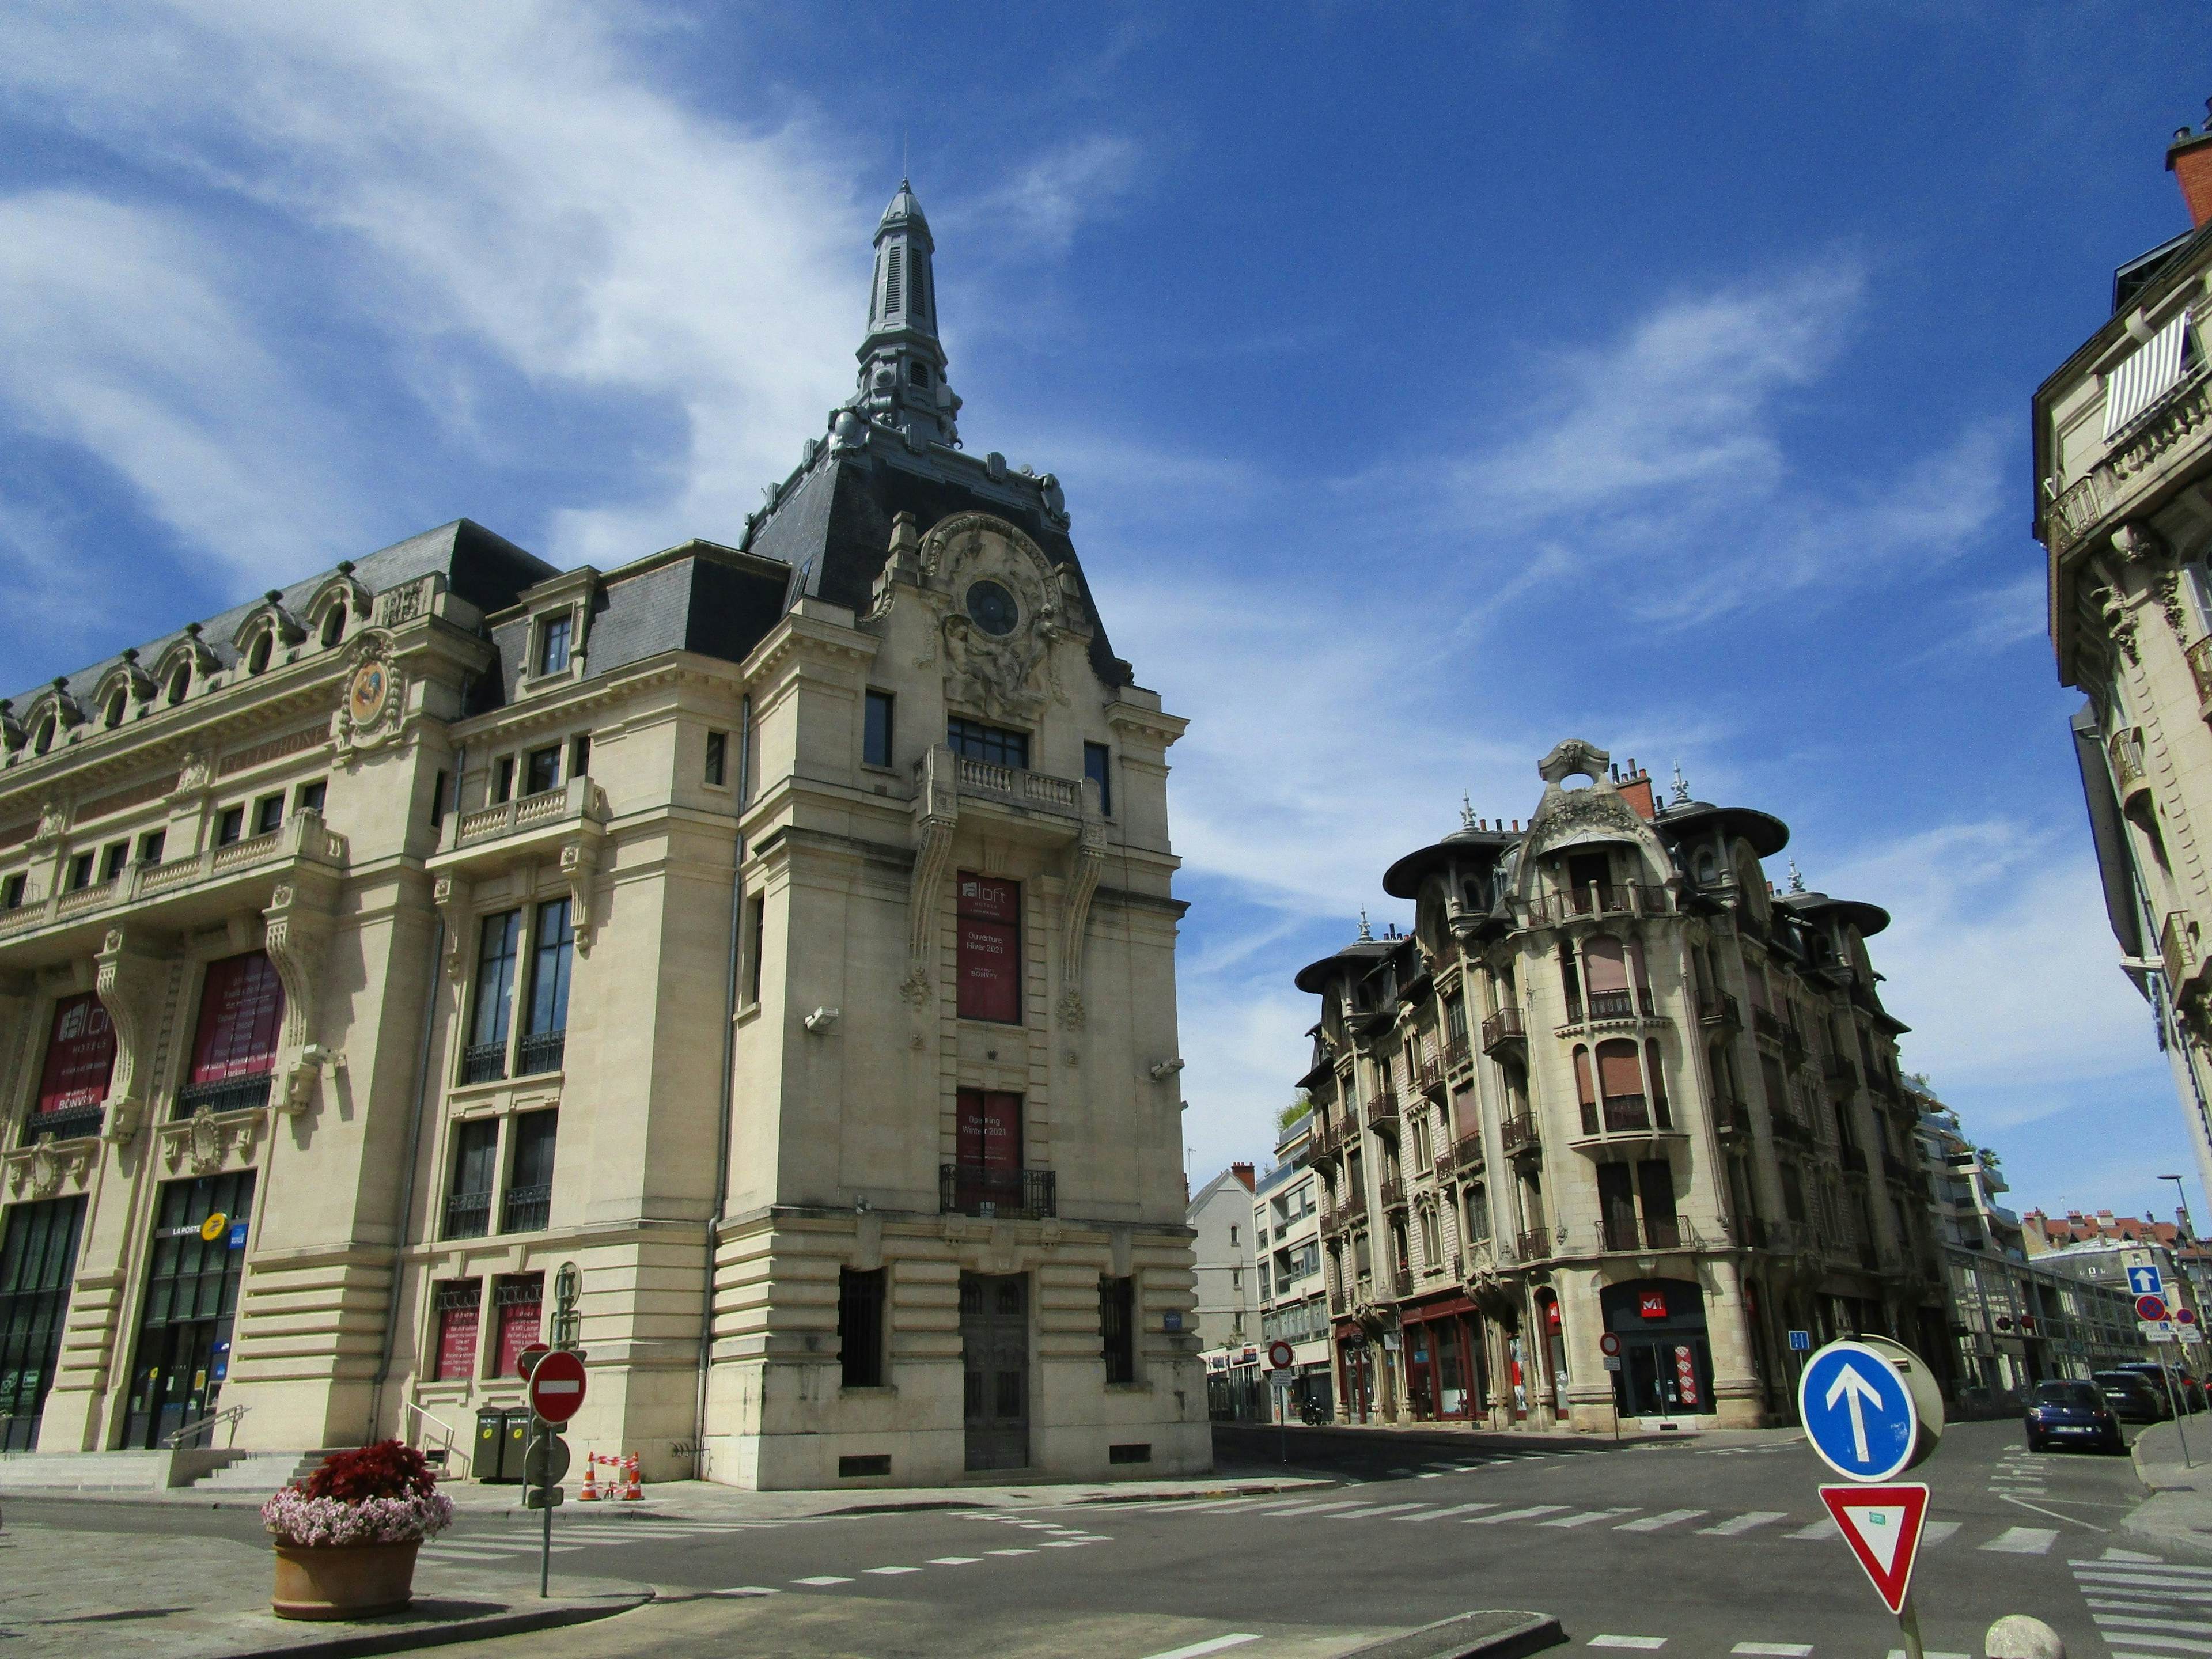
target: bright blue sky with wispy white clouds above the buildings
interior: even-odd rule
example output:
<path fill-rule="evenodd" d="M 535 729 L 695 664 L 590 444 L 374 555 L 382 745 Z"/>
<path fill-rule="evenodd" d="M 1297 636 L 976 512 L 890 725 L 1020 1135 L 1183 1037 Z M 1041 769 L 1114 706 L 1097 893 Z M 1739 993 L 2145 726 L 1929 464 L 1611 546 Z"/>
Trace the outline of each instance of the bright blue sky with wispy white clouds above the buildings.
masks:
<path fill-rule="evenodd" d="M 1062 476 L 1192 719 L 1194 1179 L 1265 1157 L 1290 973 L 1402 918 L 1389 858 L 1579 734 L 1896 914 L 1907 1064 L 2022 1208 L 2212 1214 L 2026 533 L 2212 22 L 1436 11 L 13 9 L 0 677 L 462 513 L 734 540 L 849 392 L 905 144 L 962 436 Z"/>

